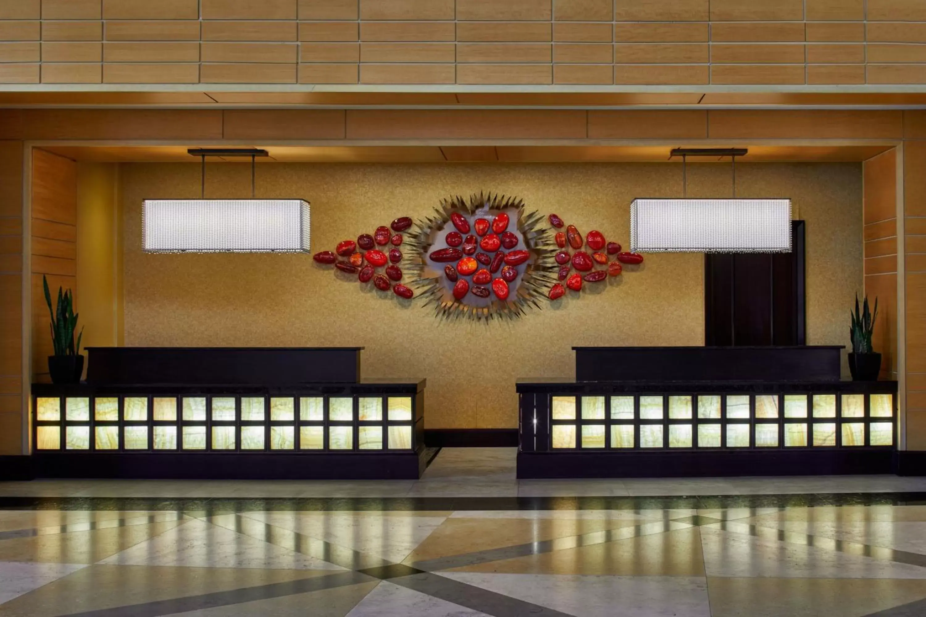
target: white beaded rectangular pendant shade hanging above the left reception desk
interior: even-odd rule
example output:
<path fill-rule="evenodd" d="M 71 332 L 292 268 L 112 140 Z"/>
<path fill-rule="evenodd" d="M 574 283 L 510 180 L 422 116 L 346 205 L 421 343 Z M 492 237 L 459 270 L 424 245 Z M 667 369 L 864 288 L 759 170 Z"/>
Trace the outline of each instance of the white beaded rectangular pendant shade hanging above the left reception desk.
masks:
<path fill-rule="evenodd" d="M 147 199 L 145 253 L 308 253 L 301 199 Z"/>

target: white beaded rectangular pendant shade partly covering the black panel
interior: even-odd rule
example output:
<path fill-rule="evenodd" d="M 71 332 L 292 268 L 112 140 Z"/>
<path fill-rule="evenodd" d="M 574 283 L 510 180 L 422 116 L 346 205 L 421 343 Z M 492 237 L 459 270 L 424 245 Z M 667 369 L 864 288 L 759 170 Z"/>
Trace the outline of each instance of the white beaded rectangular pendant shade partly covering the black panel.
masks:
<path fill-rule="evenodd" d="M 790 199 L 635 199 L 633 253 L 790 253 Z"/>

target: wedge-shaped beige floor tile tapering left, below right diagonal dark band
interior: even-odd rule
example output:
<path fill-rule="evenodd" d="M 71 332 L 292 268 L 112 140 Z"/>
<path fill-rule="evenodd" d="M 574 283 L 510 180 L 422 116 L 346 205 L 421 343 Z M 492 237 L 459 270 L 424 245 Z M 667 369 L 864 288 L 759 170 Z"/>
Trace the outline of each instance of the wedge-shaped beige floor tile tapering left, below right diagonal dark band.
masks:
<path fill-rule="evenodd" d="M 704 576 L 704 558 L 698 529 L 688 527 L 578 549 L 480 563 L 451 572 Z"/>

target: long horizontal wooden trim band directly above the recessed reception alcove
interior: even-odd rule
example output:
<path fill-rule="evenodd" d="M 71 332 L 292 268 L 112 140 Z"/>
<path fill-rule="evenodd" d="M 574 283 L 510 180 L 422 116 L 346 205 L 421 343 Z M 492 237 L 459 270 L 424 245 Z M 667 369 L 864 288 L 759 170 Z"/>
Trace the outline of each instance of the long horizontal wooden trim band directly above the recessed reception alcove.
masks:
<path fill-rule="evenodd" d="M 916 132 L 900 110 L 8 109 L 0 139 L 151 140 L 888 140 Z"/>

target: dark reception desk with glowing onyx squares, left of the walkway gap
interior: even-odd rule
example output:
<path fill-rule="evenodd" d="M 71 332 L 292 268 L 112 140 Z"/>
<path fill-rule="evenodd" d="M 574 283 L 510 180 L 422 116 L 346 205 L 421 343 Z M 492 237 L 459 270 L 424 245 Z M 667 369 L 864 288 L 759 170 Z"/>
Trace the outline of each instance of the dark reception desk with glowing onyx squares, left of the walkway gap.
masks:
<path fill-rule="evenodd" d="M 421 380 L 362 348 L 90 348 L 85 384 L 32 385 L 36 477 L 418 478 Z"/>

